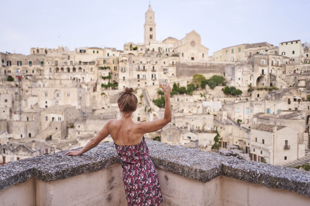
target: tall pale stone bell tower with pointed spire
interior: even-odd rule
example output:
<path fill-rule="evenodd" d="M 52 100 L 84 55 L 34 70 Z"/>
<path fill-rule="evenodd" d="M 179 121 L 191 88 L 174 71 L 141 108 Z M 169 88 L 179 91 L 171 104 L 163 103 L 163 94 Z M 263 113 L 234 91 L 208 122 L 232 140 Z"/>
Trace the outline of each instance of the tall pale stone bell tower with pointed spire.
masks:
<path fill-rule="evenodd" d="M 156 23 L 155 23 L 155 13 L 148 6 L 148 11 L 145 13 L 145 24 L 144 24 L 144 44 L 149 45 L 150 41 L 156 41 Z"/>

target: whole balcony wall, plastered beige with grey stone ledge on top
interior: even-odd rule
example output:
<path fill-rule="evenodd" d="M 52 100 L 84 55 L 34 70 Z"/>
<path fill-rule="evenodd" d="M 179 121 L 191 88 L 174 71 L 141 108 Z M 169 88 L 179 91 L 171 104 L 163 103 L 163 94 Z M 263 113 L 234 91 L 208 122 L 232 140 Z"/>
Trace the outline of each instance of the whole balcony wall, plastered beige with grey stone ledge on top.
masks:
<path fill-rule="evenodd" d="M 310 173 L 146 140 L 162 205 L 308 205 Z M 0 166 L 0 205 L 127 205 L 113 142 Z"/>

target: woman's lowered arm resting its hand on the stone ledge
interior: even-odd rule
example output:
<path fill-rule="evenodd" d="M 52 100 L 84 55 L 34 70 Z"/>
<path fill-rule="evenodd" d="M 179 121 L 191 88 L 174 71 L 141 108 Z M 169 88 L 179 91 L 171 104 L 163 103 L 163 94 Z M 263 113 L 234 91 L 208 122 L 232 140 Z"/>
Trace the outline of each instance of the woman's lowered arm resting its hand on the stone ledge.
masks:
<path fill-rule="evenodd" d="M 113 120 L 110 119 L 102 127 L 102 129 L 98 132 L 98 134 L 95 137 L 91 138 L 91 140 L 89 140 L 89 142 L 82 149 L 68 151 L 66 153 L 66 155 L 68 155 L 68 156 L 78 156 L 78 155 L 81 155 L 84 152 L 87 152 L 87 151 L 91 150 L 92 148 L 96 147 L 103 139 L 105 139 L 110 134 L 109 130 L 108 130 L 108 127 L 109 127 L 111 121 L 113 121 Z"/>

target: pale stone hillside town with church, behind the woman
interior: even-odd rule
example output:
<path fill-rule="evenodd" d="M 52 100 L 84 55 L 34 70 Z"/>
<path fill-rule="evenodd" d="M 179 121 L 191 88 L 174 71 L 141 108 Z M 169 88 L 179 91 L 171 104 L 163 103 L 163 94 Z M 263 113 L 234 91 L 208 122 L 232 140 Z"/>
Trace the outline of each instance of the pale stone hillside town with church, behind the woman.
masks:
<path fill-rule="evenodd" d="M 206 46 L 195 30 L 157 40 L 149 6 L 144 42 L 122 50 L 1 52 L 0 164 L 85 146 L 119 118 L 125 87 L 138 97 L 136 122 L 162 118 L 159 79 L 168 79 L 172 121 L 147 139 L 309 170 L 309 43 L 245 42 L 213 54 Z"/>

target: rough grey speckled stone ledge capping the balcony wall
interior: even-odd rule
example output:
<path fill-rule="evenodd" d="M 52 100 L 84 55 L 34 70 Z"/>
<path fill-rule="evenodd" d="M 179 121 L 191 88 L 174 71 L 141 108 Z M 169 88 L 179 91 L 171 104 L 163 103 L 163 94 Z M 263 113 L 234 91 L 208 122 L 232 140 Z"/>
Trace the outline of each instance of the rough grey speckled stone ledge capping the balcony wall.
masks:
<path fill-rule="evenodd" d="M 285 166 L 238 160 L 212 152 L 146 140 L 155 166 L 172 173 L 208 182 L 226 176 L 269 188 L 280 188 L 310 197 L 310 173 Z M 80 149 L 80 148 L 78 148 Z M 77 149 L 77 150 L 78 150 Z M 101 143 L 81 156 L 66 151 L 14 161 L 0 166 L 0 190 L 34 177 L 57 181 L 119 164 L 113 142 Z"/>

